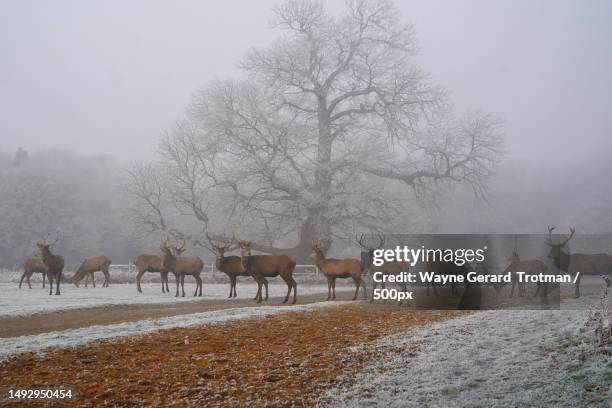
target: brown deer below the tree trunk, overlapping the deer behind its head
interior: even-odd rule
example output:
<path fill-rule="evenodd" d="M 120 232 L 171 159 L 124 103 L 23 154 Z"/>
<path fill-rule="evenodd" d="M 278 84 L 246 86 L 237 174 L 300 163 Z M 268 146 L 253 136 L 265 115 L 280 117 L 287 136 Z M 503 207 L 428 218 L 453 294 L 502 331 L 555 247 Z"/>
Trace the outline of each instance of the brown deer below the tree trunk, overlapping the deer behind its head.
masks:
<path fill-rule="evenodd" d="M 250 241 L 242 241 L 236 239 L 240 246 L 240 260 L 242 267 L 255 279 L 257 282 L 257 294 L 255 299 L 257 303 L 262 301 L 262 286 L 266 287 L 266 299 L 268 300 L 268 280 L 280 276 L 287 284 L 287 295 L 283 303 L 287 303 L 291 289 L 293 289 L 293 304 L 297 301 L 297 283 L 293 279 L 293 270 L 295 269 L 296 260 L 294 257 L 285 254 L 273 255 L 251 255 Z"/>

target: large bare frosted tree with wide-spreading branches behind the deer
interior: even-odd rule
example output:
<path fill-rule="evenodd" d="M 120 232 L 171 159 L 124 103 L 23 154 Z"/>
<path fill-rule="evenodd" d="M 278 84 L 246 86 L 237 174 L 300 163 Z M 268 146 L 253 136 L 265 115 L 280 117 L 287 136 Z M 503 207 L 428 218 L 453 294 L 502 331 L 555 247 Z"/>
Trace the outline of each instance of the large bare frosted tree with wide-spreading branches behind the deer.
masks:
<path fill-rule="evenodd" d="M 162 140 L 168 191 L 203 229 L 231 225 L 263 237 L 255 249 L 303 259 L 312 239 L 389 230 L 405 190 L 483 192 L 500 122 L 454 114 L 392 3 L 348 1 L 333 15 L 287 1 L 272 26 L 281 34 L 245 56 L 244 77 L 203 88 Z"/>

